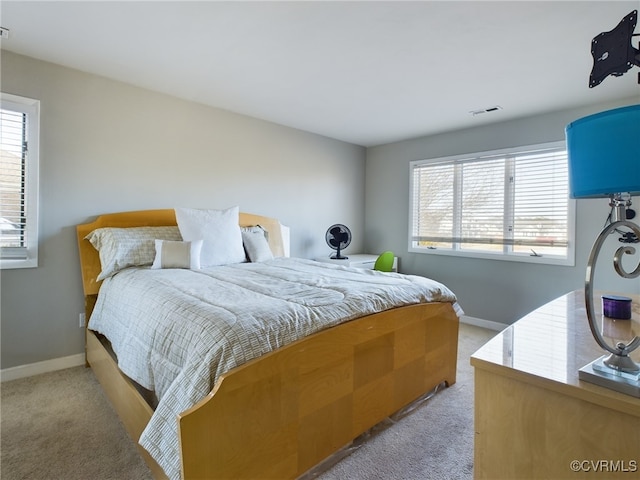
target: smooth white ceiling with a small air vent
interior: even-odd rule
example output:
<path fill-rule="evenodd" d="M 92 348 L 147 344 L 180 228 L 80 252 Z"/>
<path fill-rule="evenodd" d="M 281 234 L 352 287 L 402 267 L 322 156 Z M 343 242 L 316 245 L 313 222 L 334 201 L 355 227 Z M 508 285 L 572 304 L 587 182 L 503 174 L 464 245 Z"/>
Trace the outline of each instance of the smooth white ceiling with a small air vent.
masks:
<path fill-rule="evenodd" d="M 373 146 L 638 96 L 588 88 L 640 1 L 7 1 L 2 48 Z M 635 42 L 635 41 L 634 41 Z M 499 105 L 502 110 L 469 112 Z"/>

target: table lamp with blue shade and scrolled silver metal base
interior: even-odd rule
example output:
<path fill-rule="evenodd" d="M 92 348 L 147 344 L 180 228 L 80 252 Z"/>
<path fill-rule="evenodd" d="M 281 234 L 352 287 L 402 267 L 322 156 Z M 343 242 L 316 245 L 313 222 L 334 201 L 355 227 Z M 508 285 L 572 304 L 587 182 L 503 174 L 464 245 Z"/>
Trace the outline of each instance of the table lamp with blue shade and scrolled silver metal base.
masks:
<path fill-rule="evenodd" d="M 608 110 L 576 120 L 566 128 L 569 158 L 569 195 L 571 198 L 608 197 L 611 223 L 596 238 L 585 280 L 585 303 L 591 333 L 600 347 L 609 352 L 579 370 L 579 378 L 640 397 L 640 365 L 629 354 L 640 346 L 640 337 L 628 343 L 609 345 L 596 323 L 593 305 L 595 264 L 605 240 L 622 227 L 629 229 L 625 243 L 614 254 L 618 275 L 627 279 L 640 276 L 640 261 L 628 272 L 622 265 L 625 255 L 634 255 L 631 246 L 640 239 L 640 227 L 630 221 L 631 197 L 640 194 L 640 105 Z M 629 320 L 631 321 L 631 320 Z"/>

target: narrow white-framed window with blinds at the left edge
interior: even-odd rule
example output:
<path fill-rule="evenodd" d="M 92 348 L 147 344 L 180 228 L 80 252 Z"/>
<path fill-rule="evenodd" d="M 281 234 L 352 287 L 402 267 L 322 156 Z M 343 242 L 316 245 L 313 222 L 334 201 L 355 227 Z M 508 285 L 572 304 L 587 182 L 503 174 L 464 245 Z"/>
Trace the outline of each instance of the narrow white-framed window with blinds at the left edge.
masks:
<path fill-rule="evenodd" d="M 40 102 L 2 93 L 0 108 L 0 266 L 38 266 Z"/>

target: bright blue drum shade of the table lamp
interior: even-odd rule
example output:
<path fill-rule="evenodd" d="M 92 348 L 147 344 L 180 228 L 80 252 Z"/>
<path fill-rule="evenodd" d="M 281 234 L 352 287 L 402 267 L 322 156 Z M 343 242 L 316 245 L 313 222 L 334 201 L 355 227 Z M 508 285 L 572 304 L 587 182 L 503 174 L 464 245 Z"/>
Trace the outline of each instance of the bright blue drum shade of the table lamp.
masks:
<path fill-rule="evenodd" d="M 640 105 L 576 120 L 566 136 L 571 198 L 640 194 Z"/>

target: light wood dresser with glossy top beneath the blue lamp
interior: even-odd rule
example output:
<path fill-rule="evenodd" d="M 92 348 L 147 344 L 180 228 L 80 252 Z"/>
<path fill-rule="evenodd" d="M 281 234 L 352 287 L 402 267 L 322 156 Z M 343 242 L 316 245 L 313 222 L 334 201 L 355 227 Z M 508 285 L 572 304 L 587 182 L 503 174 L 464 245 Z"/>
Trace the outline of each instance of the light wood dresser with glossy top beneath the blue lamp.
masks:
<path fill-rule="evenodd" d="M 603 331 L 640 335 L 639 300 L 632 320 L 605 319 Z M 604 353 L 582 291 L 540 307 L 474 353 L 475 478 L 640 478 L 640 399 L 578 379 Z M 632 358 L 640 361 L 640 349 Z"/>

